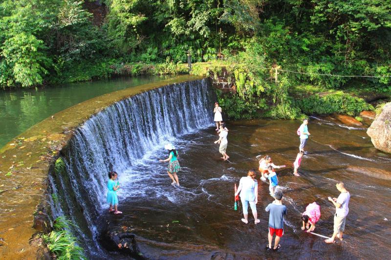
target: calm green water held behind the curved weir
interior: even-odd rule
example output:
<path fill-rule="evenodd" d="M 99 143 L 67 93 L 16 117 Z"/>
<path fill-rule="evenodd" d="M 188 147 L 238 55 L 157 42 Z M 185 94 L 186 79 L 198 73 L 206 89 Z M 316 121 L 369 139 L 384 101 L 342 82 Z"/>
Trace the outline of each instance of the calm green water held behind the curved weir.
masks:
<path fill-rule="evenodd" d="M 172 77 L 171 77 L 172 78 Z M 0 147 L 32 125 L 94 97 L 167 77 L 140 76 L 0 91 Z"/>

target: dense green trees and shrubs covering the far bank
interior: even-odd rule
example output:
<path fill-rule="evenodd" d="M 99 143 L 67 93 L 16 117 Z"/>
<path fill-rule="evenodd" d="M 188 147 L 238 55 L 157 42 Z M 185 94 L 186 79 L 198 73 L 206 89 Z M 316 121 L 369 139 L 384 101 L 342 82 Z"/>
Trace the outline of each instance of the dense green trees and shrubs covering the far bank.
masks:
<path fill-rule="evenodd" d="M 87 2 L 107 10 L 102 25 L 92 24 Z M 188 50 L 211 60 L 220 48 L 259 77 L 275 64 L 390 75 L 391 0 L 0 0 L 2 87 L 75 80 L 115 62 L 185 62 Z M 390 90 L 389 78 L 284 76 Z"/>

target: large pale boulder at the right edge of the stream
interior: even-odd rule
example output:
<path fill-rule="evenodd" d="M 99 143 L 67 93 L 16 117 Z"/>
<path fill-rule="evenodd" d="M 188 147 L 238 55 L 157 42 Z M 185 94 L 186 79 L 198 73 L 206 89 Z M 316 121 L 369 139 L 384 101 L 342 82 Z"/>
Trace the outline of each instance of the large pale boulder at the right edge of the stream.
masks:
<path fill-rule="evenodd" d="M 391 153 L 391 102 L 388 102 L 383 111 L 376 116 L 367 134 L 377 149 Z"/>

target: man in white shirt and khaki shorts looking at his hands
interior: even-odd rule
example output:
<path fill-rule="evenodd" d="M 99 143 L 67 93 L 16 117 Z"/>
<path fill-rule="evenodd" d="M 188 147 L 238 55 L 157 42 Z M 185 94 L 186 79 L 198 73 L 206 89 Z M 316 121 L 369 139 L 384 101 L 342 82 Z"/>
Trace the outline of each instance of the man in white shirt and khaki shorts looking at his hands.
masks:
<path fill-rule="evenodd" d="M 328 197 L 334 206 L 335 206 L 335 215 L 334 215 L 334 233 L 330 239 L 326 239 L 327 244 L 335 243 L 335 238 L 339 238 L 342 241 L 342 235 L 345 230 L 346 216 L 349 212 L 349 200 L 350 194 L 345 188 L 344 182 L 337 183 L 337 189 L 341 192 L 338 196 L 338 199 Z"/>

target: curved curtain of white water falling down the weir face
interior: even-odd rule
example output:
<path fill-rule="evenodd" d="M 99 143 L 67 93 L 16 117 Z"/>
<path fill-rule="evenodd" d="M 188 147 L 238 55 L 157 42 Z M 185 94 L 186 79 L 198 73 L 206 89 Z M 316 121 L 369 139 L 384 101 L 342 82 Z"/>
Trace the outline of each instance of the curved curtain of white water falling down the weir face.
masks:
<path fill-rule="evenodd" d="M 54 217 L 74 220 L 75 235 L 99 256 L 97 220 L 107 209 L 108 172 L 122 173 L 169 140 L 212 125 L 212 100 L 207 80 L 194 80 L 137 94 L 92 116 L 62 151 L 66 173 L 49 178 Z"/>

